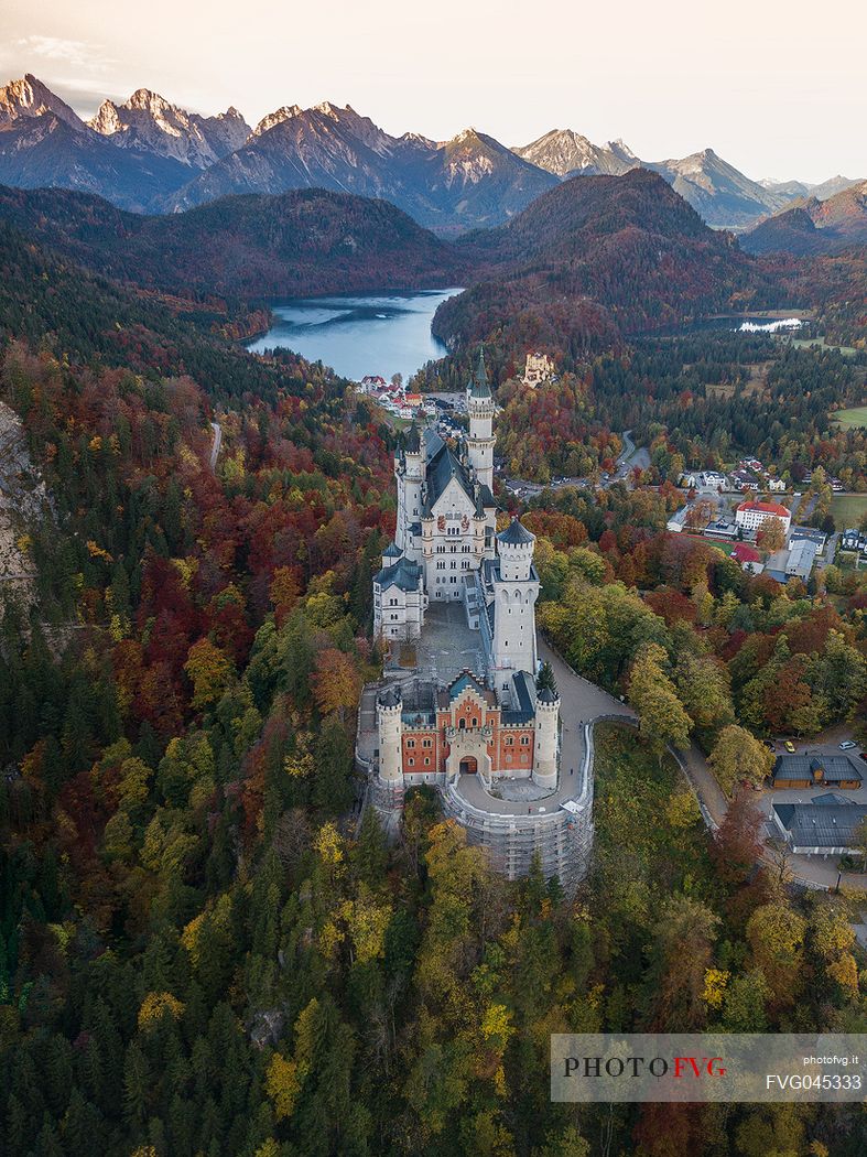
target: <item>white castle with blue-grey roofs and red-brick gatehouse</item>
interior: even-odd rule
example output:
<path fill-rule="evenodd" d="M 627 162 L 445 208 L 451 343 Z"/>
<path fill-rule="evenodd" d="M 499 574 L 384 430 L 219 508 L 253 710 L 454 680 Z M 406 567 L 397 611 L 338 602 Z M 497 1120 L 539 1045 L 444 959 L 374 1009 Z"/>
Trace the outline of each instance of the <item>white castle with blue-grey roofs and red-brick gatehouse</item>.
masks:
<path fill-rule="evenodd" d="M 518 518 L 497 533 L 496 407 L 482 353 L 467 408 L 460 452 L 432 430 L 413 430 L 394 456 L 397 528 L 373 576 L 373 627 L 420 650 L 438 631 L 440 651 L 451 646 L 480 662 L 447 679 L 416 670 L 379 694 L 379 779 L 445 787 L 479 773 L 488 784 L 513 776 L 554 787 L 560 699 L 536 688 L 535 536 Z"/>

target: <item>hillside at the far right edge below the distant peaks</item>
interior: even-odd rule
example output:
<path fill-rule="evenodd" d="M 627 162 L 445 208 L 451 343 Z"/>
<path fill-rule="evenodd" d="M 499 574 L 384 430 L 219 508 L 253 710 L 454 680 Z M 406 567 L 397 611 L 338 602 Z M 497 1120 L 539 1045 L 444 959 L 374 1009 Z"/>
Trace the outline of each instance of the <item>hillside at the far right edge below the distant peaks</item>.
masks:
<path fill-rule="evenodd" d="M 762 221 L 742 237 L 750 253 L 796 256 L 835 253 L 867 244 L 867 182 L 835 193 L 825 201 L 807 198 Z"/>

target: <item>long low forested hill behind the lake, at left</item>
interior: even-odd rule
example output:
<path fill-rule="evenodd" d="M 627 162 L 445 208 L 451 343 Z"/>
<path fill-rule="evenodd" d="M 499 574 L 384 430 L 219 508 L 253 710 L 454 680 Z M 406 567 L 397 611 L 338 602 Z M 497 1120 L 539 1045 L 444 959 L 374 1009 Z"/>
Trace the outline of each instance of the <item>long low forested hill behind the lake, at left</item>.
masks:
<path fill-rule="evenodd" d="M 200 297 L 439 287 L 462 266 L 387 201 L 321 189 L 141 216 L 87 193 L 0 186 L 0 218 L 106 277 Z"/>

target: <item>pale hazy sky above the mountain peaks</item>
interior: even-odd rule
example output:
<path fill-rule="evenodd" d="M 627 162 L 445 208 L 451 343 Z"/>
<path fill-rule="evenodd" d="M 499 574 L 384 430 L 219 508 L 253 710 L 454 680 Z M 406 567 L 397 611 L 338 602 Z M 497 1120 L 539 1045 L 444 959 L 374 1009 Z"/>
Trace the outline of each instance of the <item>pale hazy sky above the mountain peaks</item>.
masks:
<path fill-rule="evenodd" d="M 0 78 L 82 115 L 147 87 L 254 124 L 351 104 L 388 132 L 551 127 L 751 177 L 867 176 L 865 0 L 1 0 Z"/>

